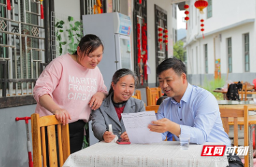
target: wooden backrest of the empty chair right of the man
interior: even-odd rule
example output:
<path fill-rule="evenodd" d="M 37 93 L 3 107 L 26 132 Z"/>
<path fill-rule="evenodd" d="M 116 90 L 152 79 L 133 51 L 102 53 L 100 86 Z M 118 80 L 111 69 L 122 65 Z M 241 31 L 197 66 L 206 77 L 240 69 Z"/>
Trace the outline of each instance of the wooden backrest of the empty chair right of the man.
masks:
<path fill-rule="evenodd" d="M 248 146 L 248 106 L 244 105 L 244 109 L 221 108 L 220 112 L 223 128 L 227 134 L 229 134 L 229 124 L 233 119 L 233 142 L 235 146 L 238 146 L 238 117 L 243 118 L 244 146 Z M 248 166 L 248 154 L 244 156 L 244 166 Z"/>

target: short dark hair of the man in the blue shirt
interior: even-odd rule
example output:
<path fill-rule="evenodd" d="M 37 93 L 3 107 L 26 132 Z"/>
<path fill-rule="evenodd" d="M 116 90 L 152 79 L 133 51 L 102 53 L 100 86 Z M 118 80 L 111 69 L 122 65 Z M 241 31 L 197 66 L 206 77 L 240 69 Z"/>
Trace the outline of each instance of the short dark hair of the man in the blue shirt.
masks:
<path fill-rule="evenodd" d="M 179 76 L 182 75 L 182 73 L 186 74 L 186 66 L 182 60 L 177 59 L 175 57 L 173 58 L 167 58 L 164 61 L 162 61 L 158 67 L 156 67 L 156 74 L 160 75 L 162 71 L 165 71 L 167 69 L 173 69 L 175 73 Z"/>

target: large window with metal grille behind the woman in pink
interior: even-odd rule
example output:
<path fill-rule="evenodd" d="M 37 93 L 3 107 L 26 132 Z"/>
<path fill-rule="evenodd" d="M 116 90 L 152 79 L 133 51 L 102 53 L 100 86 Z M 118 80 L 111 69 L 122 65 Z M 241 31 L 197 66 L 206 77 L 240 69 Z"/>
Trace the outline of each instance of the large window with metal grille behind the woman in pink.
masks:
<path fill-rule="evenodd" d="M 40 1 L 14 0 L 11 5 L 12 10 L 7 10 L 5 1 L 0 3 L 0 108 L 35 103 L 34 83 L 50 61 L 46 30 L 52 3 L 43 1 L 44 19 L 40 18 Z M 7 98 L 12 100 L 4 103 Z"/>

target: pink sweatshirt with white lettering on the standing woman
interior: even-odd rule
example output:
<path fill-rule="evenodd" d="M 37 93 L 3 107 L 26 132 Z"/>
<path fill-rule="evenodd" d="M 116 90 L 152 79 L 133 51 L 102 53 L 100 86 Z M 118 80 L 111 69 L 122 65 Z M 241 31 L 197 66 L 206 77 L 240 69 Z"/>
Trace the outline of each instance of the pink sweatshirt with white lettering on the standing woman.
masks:
<path fill-rule="evenodd" d="M 53 115 L 39 103 L 40 96 L 49 94 L 59 107 L 70 113 L 69 123 L 79 119 L 88 122 L 91 113 L 88 103 L 96 92 L 107 93 L 100 69 L 82 67 L 70 54 L 64 54 L 48 64 L 35 83 L 33 94 L 38 102 L 35 113 Z"/>

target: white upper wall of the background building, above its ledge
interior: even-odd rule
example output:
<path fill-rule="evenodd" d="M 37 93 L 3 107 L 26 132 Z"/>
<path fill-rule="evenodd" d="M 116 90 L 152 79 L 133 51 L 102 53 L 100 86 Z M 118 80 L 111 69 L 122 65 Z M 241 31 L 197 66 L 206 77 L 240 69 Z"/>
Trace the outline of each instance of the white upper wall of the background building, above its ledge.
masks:
<path fill-rule="evenodd" d="M 242 20 L 255 18 L 255 0 L 225 0 L 225 1 L 212 1 L 212 17 L 207 18 L 207 7 L 203 10 L 204 14 L 200 14 L 199 10 L 195 8 L 196 0 L 191 0 L 188 5 L 190 14 L 188 17 L 188 31 L 187 41 L 192 39 L 195 35 L 201 35 L 201 22 L 204 22 L 204 33 L 209 33 L 216 29 L 241 22 Z"/>

